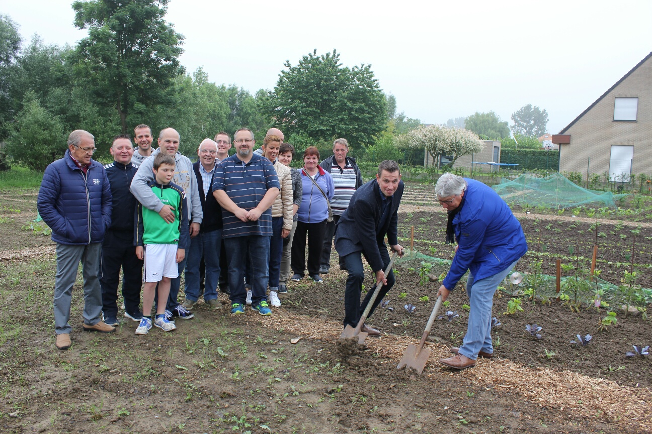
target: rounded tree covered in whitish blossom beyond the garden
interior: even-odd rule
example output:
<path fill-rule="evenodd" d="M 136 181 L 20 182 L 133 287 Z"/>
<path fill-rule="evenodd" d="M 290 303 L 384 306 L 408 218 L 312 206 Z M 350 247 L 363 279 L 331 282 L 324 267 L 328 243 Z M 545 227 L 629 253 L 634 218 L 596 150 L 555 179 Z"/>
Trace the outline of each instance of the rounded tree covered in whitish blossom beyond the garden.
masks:
<path fill-rule="evenodd" d="M 484 142 L 472 131 L 441 125 L 421 125 L 399 136 L 397 141 L 402 148 L 425 149 L 435 165 L 439 163 L 439 156 L 451 156 L 448 167 L 459 157 L 481 152 L 484 148 Z"/>

